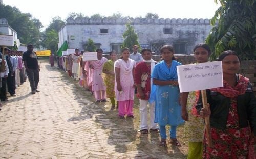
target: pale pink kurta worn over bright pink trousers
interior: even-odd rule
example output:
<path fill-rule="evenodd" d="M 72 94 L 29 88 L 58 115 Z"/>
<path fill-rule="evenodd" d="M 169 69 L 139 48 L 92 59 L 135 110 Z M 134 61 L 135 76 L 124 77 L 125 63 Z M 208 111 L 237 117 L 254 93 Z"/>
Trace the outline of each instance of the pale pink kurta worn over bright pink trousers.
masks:
<path fill-rule="evenodd" d="M 136 67 L 136 62 L 132 59 L 129 59 L 126 63 L 124 60 L 119 59 L 115 62 L 114 66 L 120 68 L 120 84 L 123 90 L 122 93 L 117 90 L 115 81 L 117 101 L 134 100 L 133 68 Z"/>

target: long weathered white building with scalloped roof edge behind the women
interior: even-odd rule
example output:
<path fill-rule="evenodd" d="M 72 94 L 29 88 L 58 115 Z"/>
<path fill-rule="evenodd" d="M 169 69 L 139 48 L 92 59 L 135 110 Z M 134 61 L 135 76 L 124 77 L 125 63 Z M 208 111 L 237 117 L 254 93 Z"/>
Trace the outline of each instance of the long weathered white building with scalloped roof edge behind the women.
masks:
<path fill-rule="evenodd" d="M 159 53 L 161 46 L 173 45 L 176 54 L 188 54 L 198 43 L 203 43 L 212 26 L 209 19 L 146 19 L 146 18 L 68 18 L 59 31 L 59 46 L 67 40 L 69 48 L 84 50 L 91 38 L 104 52 L 120 52 L 125 24 L 131 23 L 142 48 Z"/>

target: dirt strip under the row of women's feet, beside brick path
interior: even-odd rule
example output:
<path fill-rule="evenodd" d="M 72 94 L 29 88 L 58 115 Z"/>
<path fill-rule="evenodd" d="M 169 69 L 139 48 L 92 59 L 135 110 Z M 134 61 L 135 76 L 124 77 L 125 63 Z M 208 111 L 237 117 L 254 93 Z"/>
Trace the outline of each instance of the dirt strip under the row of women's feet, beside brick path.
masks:
<path fill-rule="evenodd" d="M 125 145 L 125 149 L 123 149 L 123 152 L 125 151 L 143 151 L 149 156 L 159 156 L 156 158 L 162 158 L 161 155 L 168 156 L 168 158 L 186 158 L 187 151 L 188 151 L 188 142 L 187 139 L 183 137 L 183 129 L 184 125 L 178 126 L 177 129 L 177 139 L 182 143 L 182 146 L 176 147 L 172 146 L 170 144 L 170 140 L 167 139 L 167 147 L 160 147 L 159 141 L 160 136 L 159 133 L 152 132 L 149 134 L 141 134 L 139 132 L 139 124 L 140 124 L 140 118 L 139 118 L 139 100 L 135 96 L 134 100 L 134 115 L 136 116 L 135 119 L 127 118 L 127 119 L 119 119 L 118 118 L 118 110 L 110 110 L 111 103 L 110 101 L 106 103 L 96 103 L 94 96 L 90 94 L 90 91 L 84 91 L 84 88 L 79 86 L 78 80 L 74 80 L 73 78 L 70 78 L 67 75 L 67 72 L 62 71 L 59 69 L 59 71 L 62 72 L 63 77 L 69 79 L 71 84 L 76 88 L 79 88 L 79 93 L 84 95 L 87 99 L 94 102 L 96 105 L 98 105 L 98 108 L 102 109 L 102 113 L 109 116 L 109 119 L 111 119 L 117 126 L 123 129 L 123 133 L 127 136 L 127 138 L 130 139 L 132 144 Z M 108 99 L 109 100 L 109 99 Z M 166 127 L 166 134 L 168 135 L 169 126 Z M 167 136 L 169 138 L 169 136 Z M 119 147 L 119 149 L 122 149 L 122 146 Z M 154 157 L 155 158 L 155 157 Z"/>

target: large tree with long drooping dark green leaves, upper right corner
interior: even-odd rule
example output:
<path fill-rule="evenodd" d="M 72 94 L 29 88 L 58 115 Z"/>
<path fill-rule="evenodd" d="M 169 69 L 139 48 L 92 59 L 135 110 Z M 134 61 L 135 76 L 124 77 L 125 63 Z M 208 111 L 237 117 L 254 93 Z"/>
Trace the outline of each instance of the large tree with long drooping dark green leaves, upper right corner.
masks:
<path fill-rule="evenodd" d="M 221 6 L 211 19 L 206 38 L 213 58 L 225 50 L 236 51 L 242 60 L 256 59 L 256 0 L 215 0 Z"/>

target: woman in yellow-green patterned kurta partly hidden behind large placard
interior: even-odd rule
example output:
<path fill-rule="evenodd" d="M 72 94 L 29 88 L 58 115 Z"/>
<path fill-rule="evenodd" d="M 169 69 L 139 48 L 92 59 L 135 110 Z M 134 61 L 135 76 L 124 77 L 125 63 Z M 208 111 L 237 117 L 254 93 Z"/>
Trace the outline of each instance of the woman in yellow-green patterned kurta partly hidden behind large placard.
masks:
<path fill-rule="evenodd" d="M 194 56 L 196 63 L 207 62 L 211 54 L 207 44 L 198 44 L 194 47 Z M 185 122 L 185 136 L 188 138 L 187 158 L 202 158 L 203 155 L 203 137 L 204 137 L 204 119 L 196 116 L 195 105 L 200 97 L 201 91 L 182 93 L 181 111 Z"/>

